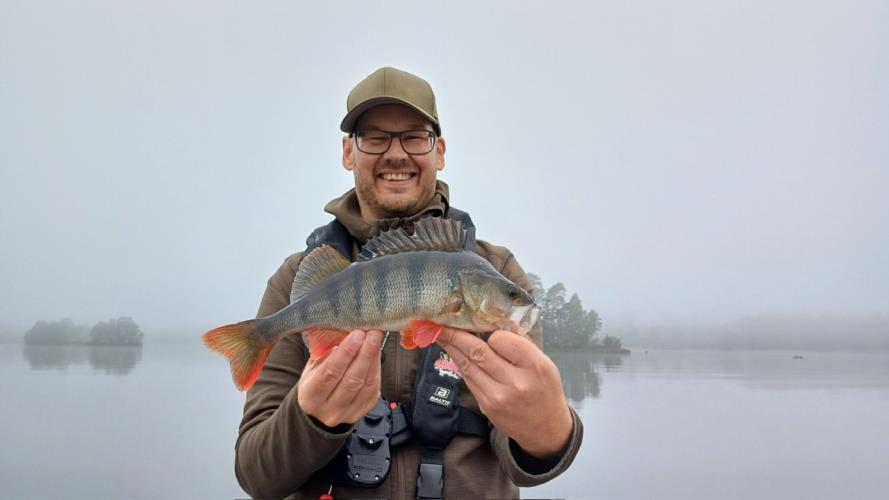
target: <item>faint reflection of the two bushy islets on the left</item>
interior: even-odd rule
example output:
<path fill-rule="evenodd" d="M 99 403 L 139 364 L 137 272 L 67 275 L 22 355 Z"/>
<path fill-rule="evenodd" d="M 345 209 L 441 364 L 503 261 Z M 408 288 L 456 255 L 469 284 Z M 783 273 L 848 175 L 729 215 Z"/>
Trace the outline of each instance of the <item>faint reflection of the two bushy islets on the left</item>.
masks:
<path fill-rule="evenodd" d="M 142 346 L 25 344 L 22 354 L 32 370 L 67 370 L 89 363 L 108 375 L 127 375 L 142 361 Z"/>

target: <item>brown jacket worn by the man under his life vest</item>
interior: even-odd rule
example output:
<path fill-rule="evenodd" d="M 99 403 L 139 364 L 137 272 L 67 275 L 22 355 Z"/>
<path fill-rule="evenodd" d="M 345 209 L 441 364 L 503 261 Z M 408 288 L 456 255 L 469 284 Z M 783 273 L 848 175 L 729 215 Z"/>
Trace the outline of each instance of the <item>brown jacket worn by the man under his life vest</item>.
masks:
<path fill-rule="evenodd" d="M 364 221 L 354 190 L 328 203 L 325 210 L 363 243 L 384 228 L 421 217 L 447 216 L 448 190 L 447 185 L 439 181 L 433 202 L 419 214 L 403 220 Z M 509 250 L 480 240 L 477 246 L 478 253 L 498 271 L 531 291 L 528 277 Z M 269 279 L 259 316 L 272 314 L 290 303 L 290 288 L 301 258 L 302 252 L 291 255 Z M 529 336 L 542 346 L 539 325 Z M 420 352 L 402 349 L 397 333 L 389 336 L 383 350 L 383 397 L 389 401 L 410 400 Z M 262 374 L 247 392 L 235 444 L 235 473 L 244 491 L 254 497 L 291 495 L 288 498 L 317 499 L 326 493 L 330 485 L 314 473 L 334 458 L 351 432 L 351 428 L 324 429 L 300 409 L 297 382 L 305 362 L 301 336 L 285 337 L 272 350 Z M 460 404 L 479 412 L 469 390 L 461 391 Z M 445 498 L 518 498 L 518 486 L 538 485 L 561 474 L 577 454 L 583 436 L 580 419 L 573 410 L 571 414 L 574 418 L 571 439 L 560 456 L 549 461 L 525 455 L 497 428 L 492 429 L 489 442 L 475 436 L 456 435 L 444 455 Z M 392 466 L 382 485 L 375 489 L 334 488 L 334 497 L 338 500 L 416 498 L 420 452 L 415 442 L 392 450 Z"/>

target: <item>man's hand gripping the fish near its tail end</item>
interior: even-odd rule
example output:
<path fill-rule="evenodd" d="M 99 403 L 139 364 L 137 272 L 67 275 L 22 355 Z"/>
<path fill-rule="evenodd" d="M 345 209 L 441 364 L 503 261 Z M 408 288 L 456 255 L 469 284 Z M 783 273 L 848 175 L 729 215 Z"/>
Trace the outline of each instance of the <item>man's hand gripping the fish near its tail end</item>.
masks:
<path fill-rule="evenodd" d="M 326 358 L 309 360 L 299 406 L 327 427 L 354 424 L 380 399 L 379 330 L 354 330 Z"/>

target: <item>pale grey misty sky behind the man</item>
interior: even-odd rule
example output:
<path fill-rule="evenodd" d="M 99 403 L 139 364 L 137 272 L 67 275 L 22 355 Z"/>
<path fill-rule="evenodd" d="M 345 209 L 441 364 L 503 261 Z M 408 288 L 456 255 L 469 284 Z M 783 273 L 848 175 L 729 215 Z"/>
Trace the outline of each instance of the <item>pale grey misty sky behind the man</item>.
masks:
<path fill-rule="evenodd" d="M 253 316 L 383 65 L 606 323 L 889 312 L 889 2 L 0 0 L 0 326 Z"/>

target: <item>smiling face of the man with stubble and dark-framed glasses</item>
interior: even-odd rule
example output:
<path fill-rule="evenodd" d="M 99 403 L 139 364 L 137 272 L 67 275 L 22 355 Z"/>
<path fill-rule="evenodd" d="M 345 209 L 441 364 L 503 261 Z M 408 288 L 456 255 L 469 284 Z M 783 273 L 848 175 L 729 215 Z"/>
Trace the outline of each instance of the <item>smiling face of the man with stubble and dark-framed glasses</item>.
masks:
<path fill-rule="evenodd" d="M 373 107 L 358 119 L 355 129 L 432 130 L 432 124 L 413 109 L 400 104 Z M 355 191 L 365 219 L 406 217 L 423 209 L 435 194 L 435 179 L 444 168 L 445 142 L 441 137 L 424 155 L 405 153 L 401 142 L 392 144 L 383 154 L 360 151 L 355 139 L 343 138 L 343 166 L 355 175 Z"/>

